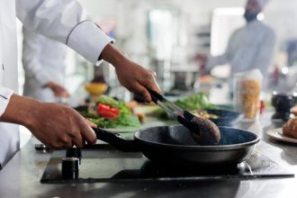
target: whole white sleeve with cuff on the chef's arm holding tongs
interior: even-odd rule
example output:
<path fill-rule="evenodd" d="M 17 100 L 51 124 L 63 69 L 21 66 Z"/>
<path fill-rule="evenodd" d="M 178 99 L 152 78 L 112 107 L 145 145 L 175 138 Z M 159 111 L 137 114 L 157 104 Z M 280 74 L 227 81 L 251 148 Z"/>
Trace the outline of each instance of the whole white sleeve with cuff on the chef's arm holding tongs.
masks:
<path fill-rule="evenodd" d="M 29 30 L 67 44 L 94 64 L 113 41 L 76 0 L 16 0 L 16 14 Z"/>

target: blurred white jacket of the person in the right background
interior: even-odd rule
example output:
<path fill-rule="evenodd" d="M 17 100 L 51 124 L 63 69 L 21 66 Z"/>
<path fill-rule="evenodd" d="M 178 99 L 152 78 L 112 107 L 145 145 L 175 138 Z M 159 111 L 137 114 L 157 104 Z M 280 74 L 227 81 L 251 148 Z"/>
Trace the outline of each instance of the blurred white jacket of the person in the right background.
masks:
<path fill-rule="evenodd" d="M 228 47 L 221 56 L 209 56 L 206 69 L 229 64 L 231 74 L 259 68 L 266 76 L 275 50 L 275 31 L 257 20 L 234 31 Z"/>

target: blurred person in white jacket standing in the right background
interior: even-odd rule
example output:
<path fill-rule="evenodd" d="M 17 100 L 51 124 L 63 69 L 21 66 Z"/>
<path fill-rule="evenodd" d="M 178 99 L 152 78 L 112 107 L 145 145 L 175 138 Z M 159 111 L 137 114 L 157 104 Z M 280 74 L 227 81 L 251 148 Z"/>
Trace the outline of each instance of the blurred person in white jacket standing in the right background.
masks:
<path fill-rule="evenodd" d="M 247 0 L 244 14 L 247 24 L 231 34 L 224 54 L 216 57 L 205 54 L 196 56 L 202 73 L 208 73 L 211 68 L 224 64 L 230 65 L 231 76 L 258 68 L 264 76 L 264 86 L 266 86 L 268 67 L 274 56 L 276 38 L 275 31 L 260 22 L 257 16 L 268 2 L 269 0 Z"/>

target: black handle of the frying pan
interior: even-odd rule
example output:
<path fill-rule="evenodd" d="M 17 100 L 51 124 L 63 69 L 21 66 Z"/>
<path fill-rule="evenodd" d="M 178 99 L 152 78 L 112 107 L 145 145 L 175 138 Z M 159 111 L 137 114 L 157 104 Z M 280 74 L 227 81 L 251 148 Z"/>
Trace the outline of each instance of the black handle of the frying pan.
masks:
<path fill-rule="evenodd" d="M 134 139 L 123 139 L 118 132 L 92 128 L 97 139 L 103 140 L 124 152 L 139 152 L 139 146 Z"/>

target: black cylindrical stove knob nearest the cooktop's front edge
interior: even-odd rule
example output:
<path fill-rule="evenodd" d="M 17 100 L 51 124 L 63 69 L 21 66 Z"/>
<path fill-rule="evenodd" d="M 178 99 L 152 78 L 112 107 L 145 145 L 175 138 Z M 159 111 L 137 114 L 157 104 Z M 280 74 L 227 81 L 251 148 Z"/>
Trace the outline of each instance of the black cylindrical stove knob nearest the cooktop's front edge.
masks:
<path fill-rule="evenodd" d="M 64 179 L 78 179 L 79 159 L 77 157 L 62 158 L 62 176 Z"/>

